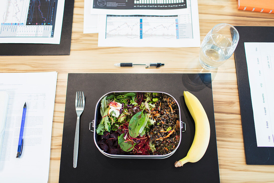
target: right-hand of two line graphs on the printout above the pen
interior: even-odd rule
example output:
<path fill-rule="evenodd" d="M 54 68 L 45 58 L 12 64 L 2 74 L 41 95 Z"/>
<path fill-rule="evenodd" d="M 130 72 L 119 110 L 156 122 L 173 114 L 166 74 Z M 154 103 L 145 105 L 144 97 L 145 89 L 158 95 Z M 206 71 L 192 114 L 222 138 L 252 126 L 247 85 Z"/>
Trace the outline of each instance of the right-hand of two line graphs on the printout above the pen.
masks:
<path fill-rule="evenodd" d="M 142 37 L 176 39 L 176 17 L 144 18 Z"/>

